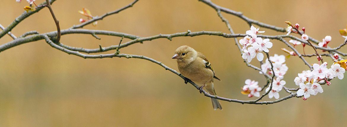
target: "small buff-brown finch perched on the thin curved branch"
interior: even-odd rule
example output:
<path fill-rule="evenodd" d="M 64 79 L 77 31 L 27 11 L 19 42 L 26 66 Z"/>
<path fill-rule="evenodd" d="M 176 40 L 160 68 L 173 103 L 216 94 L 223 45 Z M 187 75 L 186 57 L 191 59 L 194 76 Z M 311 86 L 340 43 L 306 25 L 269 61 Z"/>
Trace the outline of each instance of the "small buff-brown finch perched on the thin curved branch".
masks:
<path fill-rule="evenodd" d="M 199 85 L 200 92 L 205 87 L 211 95 L 217 96 L 213 88 L 213 79 L 220 80 L 214 75 L 214 70 L 206 57 L 189 46 L 178 47 L 172 59 L 176 59 L 179 72 L 187 80 L 193 81 Z M 219 101 L 211 98 L 213 109 L 221 109 Z"/>

